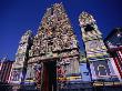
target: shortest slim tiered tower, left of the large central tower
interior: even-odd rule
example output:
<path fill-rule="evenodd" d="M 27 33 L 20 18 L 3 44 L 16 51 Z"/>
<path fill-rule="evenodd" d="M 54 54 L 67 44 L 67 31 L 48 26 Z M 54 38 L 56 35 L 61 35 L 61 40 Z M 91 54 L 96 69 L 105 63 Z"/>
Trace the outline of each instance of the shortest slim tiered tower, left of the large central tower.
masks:
<path fill-rule="evenodd" d="M 24 81 L 27 64 L 29 59 L 29 49 L 32 44 L 32 32 L 27 31 L 19 42 L 19 48 L 16 54 L 16 62 L 12 65 L 10 82 L 22 83 Z"/>

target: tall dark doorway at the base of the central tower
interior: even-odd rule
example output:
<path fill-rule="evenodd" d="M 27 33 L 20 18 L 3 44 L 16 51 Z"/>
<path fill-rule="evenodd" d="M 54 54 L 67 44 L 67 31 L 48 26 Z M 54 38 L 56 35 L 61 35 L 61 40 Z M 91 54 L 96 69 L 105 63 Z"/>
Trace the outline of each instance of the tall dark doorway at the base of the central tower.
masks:
<path fill-rule="evenodd" d="M 44 91 L 57 91 L 57 61 L 44 62 Z"/>

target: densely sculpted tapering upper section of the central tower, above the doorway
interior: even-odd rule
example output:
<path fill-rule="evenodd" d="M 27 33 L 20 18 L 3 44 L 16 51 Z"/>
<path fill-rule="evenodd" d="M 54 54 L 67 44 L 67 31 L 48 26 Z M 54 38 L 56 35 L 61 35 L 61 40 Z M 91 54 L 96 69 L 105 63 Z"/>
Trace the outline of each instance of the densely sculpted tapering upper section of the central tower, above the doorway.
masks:
<path fill-rule="evenodd" d="M 61 51 L 74 48 L 78 49 L 78 42 L 70 20 L 62 4 L 55 3 L 52 8 L 47 9 L 38 33 L 33 39 L 29 57 L 42 55 L 48 59 L 53 57 L 55 52 L 61 53 Z M 69 51 L 69 53 L 72 52 Z"/>

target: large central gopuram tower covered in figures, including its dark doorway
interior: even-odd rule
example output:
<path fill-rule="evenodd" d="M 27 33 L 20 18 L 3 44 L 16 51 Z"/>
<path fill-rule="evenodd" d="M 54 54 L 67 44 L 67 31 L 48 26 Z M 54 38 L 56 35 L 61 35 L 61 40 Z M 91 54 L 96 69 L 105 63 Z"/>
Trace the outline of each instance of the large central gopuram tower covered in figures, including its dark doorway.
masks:
<path fill-rule="evenodd" d="M 78 41 L 62 3 L 47 9 L 29 58 L 28 72 L 33 73 L 28 77 L 34 77 L 35 81 L 38 77 L 41 91 L 57 91 L 61 78 L 79 74 Z M 34 73 L 37 69 L 40 74 Z"/>

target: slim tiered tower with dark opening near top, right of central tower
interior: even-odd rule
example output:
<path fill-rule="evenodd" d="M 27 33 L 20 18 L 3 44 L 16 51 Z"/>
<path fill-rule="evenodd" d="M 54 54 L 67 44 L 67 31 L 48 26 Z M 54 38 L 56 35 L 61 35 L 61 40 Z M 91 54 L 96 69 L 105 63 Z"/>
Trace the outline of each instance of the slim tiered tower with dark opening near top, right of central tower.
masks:
<path fill-rule="evenodd" d="M 113 70 L 95 20 L 88 12 L 82 12 L 79 21 L 92 80 L 110 78 Z"/>

